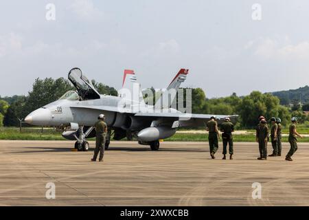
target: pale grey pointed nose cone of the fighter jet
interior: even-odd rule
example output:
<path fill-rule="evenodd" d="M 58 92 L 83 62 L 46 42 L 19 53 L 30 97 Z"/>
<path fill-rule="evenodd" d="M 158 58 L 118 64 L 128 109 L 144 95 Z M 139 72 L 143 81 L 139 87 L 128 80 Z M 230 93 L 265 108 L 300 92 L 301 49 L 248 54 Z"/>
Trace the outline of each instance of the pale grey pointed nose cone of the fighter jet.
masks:
<path fill-rule="evenodd" d="M 36 109 L 36 111 L 32 111 L 25 118 L 25 122 L 27 124 L 37 125 L 37 126 L 48 126 L 50 120 L 52 119 L 52 113 L 49 109 Z"/>

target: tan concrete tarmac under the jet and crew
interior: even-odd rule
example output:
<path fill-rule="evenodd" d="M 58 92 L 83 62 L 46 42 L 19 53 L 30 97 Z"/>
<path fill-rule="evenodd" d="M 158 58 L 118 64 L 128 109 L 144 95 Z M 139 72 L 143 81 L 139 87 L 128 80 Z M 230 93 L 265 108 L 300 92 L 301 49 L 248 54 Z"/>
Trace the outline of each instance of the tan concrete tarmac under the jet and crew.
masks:
<path fill-rule="evenodd" d="M 71 151 L 69 141 L 0 140 L 1 206 L 309 206 L 309 143 L 293 162 L 258 161 L 256 143 L 235 143 L 222 160 L 222 143 L 210 159 L 205 142 L 161 142 L 159 151 L 136 142 L 111 142 L 104 162 Z M 268 153 L 271 153 L 268 144 Z M 47 199 L 46 184 L 56 186 Z M 253 199 L 252 184 L 262 186 Z"/>

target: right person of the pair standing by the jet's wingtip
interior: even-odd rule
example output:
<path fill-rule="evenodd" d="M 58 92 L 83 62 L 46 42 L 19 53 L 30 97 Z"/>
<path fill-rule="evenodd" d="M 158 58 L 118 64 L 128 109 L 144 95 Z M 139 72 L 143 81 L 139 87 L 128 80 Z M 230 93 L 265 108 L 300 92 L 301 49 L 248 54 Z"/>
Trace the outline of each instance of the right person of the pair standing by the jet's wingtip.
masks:
<path fill-rule="evenodd" d="M 225 118 L 220 126 L 222 132 L 222 142 L 223 142 L 223 158 L 227 159 L 225 156 L 227 154 L 227 143 L 229 143 L 229 159 L 233 159 L 233 135 L 234 124 L 231 122 L 230 118 Z"/>

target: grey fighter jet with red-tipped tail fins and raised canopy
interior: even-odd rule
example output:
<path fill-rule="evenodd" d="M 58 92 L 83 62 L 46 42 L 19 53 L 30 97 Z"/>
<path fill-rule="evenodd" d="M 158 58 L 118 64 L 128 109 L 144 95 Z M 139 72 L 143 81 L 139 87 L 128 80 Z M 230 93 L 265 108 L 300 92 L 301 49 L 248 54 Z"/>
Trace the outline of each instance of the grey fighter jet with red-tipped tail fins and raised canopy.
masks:
<path fill-rule="evenodd" d="M 89 142 L 86 139 L 95 137 L 93 125 L 98 120 L 98 115 L 103 113 L 108 126 L 106 149 L 111 135 L 114 140 L 121 140 L 130 133 L 137 138 L 139 144 L 149 145 L 152 151 L 157 151 L 159 140 L 171 137 L 180 127 L 205 126 L 213 116 L 183 113 L 173 108 L 172 102 L 176 93 L 170 93 L 170 90 L 177 91 L 187 74 L 188 69 L 181 69 L 152 105 L 144 102 L 141 86 L 137 83 L 133 70 L 125 70 L 123 89 L 119 91 L 119 96 L 108 96 L 99 94 L 91 80 L 88 80 L 79 68 L 73 68 L 69 71 L 68 78 L 76 91 L 67 91 L 59 100 L 36 109 L 27 115 L 25 122 L 35 126 L 54 126 L 63 131 L 62 136 L 67 140 L 76 140 L 74 147 L 78 151 L 88 151 Z M 126 83 L 128 75 L 130 78 Z M 124 83 L 127 84 L 126 87 Z M 164 96 L 171 102 L 164 102 Z M 238 117 L 215 116 L 219 124 L 226 117 L 234 121 Z"/>

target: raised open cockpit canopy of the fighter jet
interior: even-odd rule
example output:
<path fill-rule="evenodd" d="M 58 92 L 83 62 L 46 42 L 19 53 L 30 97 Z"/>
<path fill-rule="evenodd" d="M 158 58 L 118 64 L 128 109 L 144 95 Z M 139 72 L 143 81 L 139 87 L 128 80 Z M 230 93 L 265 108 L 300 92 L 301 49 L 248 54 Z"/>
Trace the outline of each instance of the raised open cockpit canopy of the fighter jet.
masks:
<path fill-rule="evenodd" d="M 82 100 L 91 100 L 100 98 L 100 94 L 93 87 L 92 83 L 86 76 L 82 75 L 82 70 L 73 68 L 68 76 L 71 83 L 76 87 L 78 95 Z"/>

